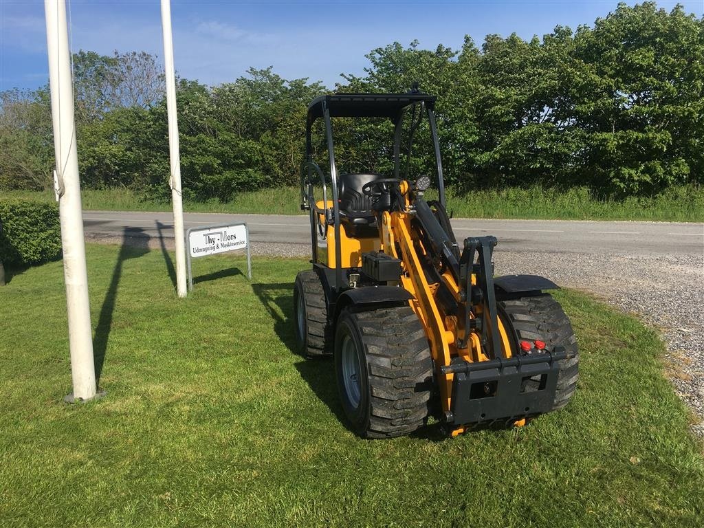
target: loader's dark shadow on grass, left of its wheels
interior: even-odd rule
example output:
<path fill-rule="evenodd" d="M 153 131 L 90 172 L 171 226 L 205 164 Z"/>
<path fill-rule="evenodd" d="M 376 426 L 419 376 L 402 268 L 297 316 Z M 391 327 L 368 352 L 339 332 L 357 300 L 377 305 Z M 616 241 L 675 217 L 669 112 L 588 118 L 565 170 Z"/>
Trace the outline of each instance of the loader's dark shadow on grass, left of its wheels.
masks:
<path fill-rule="evenodd" d="M 289 348 L 292 353 L 301 356 L 296 346 L 294 333 L 294 283 L 256 283 L 252 289 L 261 303 L 269 311 L 274 320 L 274 331 L 279 340 Z M 325 358 L 306 359 L 301 356 L 301 361 L 296 363 L 296 370 L 310 389 L 318 396 L 322 403 L 337 417 L 337 420 L 347 426 L 342 406 L 337 395 L 335 372 L 332 355 Z"/>

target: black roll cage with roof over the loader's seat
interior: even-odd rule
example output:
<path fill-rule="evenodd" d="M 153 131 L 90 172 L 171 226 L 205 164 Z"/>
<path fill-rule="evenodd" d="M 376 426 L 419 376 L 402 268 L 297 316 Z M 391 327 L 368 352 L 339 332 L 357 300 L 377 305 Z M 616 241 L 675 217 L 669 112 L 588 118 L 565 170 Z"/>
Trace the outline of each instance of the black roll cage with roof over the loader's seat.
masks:
<path fill-rule="evenodd" d="M 401 136 L 403 134 L 403 117 L 409 110 L 413 111 L 411 130 L 408 141 L 408 162 L 410 162 L 413 134 L 420 124 L 423 111 L 428 118 L 430 135 L 435 151 L 437 166 L 437 189 L 440 203 L 445 206 L 445 184 L 443 179 L 442 161 L 440 158 L 440 144 L 435 120 L 435 96 L 410 92 L 408 94 L 334 94 L 324 95 L 314 99 L 308 105 L 306 118 L 306 161 L 301 170 L 301 209 L 310 211 L 310 234 L 313 247 L 313 264 L 319 263 L 318 244 L 315 244 L 315 227 L 318 222 L 316 214 L 325 215 L 326 222 L 333 222 L 335 239 L 340 239 L 340 210 L 339 189 L 337 182 L 337 167 L 335 165 L 335 150 L 332 137 L 331 118 L 389 118 L 394 123 L 394 178 L 399 178 L 401 170 Z M 420 106 L 418 120 L 415 120 L 416 108 Z M 312 129 L 315 120 L 322 118 L 325 121 L 325 139 L 327 142 L 328 161 L 330 164 L 330 183 L 332 187 L 332 218 L 327 208 L 327 184 L 325 174 L 313 162 Z M 407 168 L 408 168 L 407 162 Z M 324 208 L 318 210 L 313 199 L 313 172 L 320 178 Z M 324 236 L 324 234 L 323 234 Z M 335 244 L 335 281 L 334 289 L 339 291 L 342 282 L 341 247 Z"/>

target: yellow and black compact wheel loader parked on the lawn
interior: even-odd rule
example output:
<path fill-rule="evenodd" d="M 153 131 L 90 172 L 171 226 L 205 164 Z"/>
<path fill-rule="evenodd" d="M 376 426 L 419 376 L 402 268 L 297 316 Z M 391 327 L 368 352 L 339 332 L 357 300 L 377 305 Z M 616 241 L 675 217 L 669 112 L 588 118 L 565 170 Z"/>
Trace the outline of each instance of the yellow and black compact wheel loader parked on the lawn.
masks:
<path fill-rule="evenodd" d="M 301 209 L 312 267 L 296 276 L 296 339 L 308 358 L 334 356 L 344 415 L 366 438 L 409 434 L 431 417 L 448 436 L 520 427 L 564 407 L 577 384 L 570 320 L 545 293 L 557 286 L 537 275 L 494 277 L 495 237 L 455 239 L 435 103 L 412 89 L 325 95 L 308 106 Z M 339 173 L 339 118 L 391 122 L 393 137 L 377 152 L 393 157 L 393 169 Z M 419 130 L 434 174 L 413 174 Z M 320 145 L 327 170 L 315 162 Z"/>

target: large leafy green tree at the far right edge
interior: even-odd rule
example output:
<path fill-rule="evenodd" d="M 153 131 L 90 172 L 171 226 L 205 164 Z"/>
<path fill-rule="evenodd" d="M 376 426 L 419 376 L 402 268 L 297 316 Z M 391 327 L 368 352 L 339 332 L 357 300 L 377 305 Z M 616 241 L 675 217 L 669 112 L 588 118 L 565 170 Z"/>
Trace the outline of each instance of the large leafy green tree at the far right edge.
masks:
<path fill-rule="evenodd" d="M 634 194 L 704 182 L 703 23 L 645 2 L 577 31 L 574 118 L 597 187 Z"/>

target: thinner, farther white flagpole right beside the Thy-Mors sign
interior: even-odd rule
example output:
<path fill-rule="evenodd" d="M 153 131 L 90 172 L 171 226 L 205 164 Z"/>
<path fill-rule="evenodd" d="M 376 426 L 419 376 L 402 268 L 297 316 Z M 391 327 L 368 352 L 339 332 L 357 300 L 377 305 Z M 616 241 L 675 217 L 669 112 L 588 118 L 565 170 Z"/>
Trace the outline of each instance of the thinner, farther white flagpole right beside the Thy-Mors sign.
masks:
<path fill-rule="evenodd" d="M 171 37 L 170 0 L 161 0 L 161 26 L 164 37 L 164 68 L 166 79 L 166 112 L 169 120 L 169 157 L 171 163 L 171 200 L 174 209 L 174 236 L 176 245 L 176 291 L 185 297 L 186 250 L 183 232 L 183 201 L 181 189 L 181 162 L 178 146 L 178 122 L 176 120 L 176 77 L 174 73 L 174 47 Z"/>

